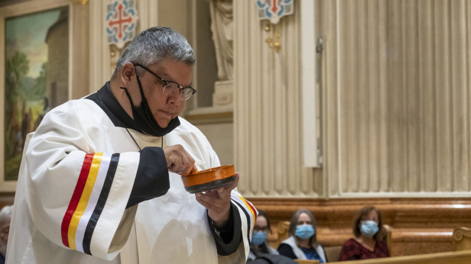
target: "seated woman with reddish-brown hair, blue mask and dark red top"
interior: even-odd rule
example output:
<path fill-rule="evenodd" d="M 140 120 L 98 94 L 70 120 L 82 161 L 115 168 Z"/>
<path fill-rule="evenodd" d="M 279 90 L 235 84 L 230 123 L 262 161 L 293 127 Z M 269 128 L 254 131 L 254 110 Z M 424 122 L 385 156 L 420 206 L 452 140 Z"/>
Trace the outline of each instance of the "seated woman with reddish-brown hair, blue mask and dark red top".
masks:
<path fill-rule="evenodd" d="M 342 246 L 339 260 L 388 257 L 389 250 L 382 241 L 381 214 L 375 207 L 362 208 L 354 218 L 353 234 Z"/>

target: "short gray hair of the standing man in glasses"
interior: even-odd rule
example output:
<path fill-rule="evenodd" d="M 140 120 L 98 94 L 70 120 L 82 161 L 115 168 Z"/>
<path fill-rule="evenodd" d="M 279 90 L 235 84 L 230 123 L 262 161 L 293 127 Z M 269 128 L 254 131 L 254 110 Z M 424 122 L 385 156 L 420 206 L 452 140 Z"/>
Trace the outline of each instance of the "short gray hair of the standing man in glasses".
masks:
<path fill-rule="evenodd" d="M 124 49 L 111 79 L 116 78 L 121 67 L 127 62 L 147 66 L 168 58 L 190 66 L 194 64 L 193 49 L 185 37 L 171 28 L 149 28 L 134 37 Z M 144 69 L 140 67 L 136 68 L 136 71 L 139 75 L 144 74 Z"/>

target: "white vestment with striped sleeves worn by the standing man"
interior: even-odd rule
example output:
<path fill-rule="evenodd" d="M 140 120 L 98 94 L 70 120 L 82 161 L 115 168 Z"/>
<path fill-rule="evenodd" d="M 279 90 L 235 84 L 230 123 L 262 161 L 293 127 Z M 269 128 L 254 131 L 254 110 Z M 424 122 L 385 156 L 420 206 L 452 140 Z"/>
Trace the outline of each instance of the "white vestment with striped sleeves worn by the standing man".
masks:
<path fill-rule="evenodd" d="M 164 145 L 181 144 L 198 170 L 219 166 L 203 133 L 180 122 Z M 178 174 L 168 173 L 164 195 L 126 209 L 139 147 L 163 145 L 161 137 L 128 131 L 89 99 L 46 114 L 26 140 L 7 263 L 245 263 L 256 210 L 235 190 L 241 242 L 229 256 L 218 255 L 207 210 Z"/>

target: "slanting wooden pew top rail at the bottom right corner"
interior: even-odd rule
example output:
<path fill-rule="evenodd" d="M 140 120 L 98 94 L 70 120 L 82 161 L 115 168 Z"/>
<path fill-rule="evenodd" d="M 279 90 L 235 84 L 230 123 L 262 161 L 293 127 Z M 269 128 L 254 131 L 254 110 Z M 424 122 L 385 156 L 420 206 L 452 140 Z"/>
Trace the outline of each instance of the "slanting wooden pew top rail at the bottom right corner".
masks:
<path fill-rule="evenodd" d="M 364 260 L 338 261 L 329 263 L 348 264 L 469 264 L 471 263 L 471 250 L 441 252 L 432 254 L 393 256 L 372 258 Z"/>

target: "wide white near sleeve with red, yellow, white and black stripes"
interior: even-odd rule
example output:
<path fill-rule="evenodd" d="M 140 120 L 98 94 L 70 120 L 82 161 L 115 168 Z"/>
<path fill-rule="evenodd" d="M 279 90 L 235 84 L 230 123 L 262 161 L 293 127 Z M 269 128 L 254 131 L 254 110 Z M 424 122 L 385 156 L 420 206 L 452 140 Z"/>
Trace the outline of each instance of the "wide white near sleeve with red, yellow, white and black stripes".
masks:
<path fill-rule="evenodd" d="M 95 115 L 86 108 L 78 113 L 71 105 L 49 112 L 29 143 L 28 208 L 51 242 L 112 259 L 127 240 L 136 213 L 135 207 L 126 207 L 142 201 L 128 205 L 131 194 L 139 193 L 133 186 L 143 153 L 99 152 L 90 136 L 102 132 L 95 125 L 99 120 L 93 121 Z M 156 188 L 160 195 L 169 188 L 166 165 L 164 170 L 166 182 L 163 177 Z"/>

